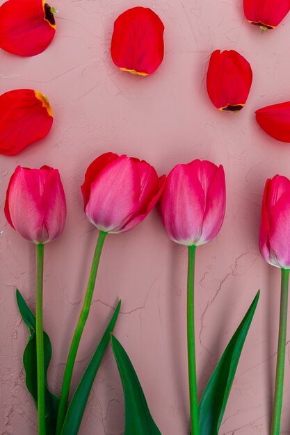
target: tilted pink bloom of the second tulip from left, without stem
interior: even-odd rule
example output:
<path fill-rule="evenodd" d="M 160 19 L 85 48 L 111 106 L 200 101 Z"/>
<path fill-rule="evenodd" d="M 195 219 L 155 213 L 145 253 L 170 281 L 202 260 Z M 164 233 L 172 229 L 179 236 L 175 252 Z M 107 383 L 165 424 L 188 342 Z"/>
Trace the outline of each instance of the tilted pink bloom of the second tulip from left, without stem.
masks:
<path fill-rule="evenodd" d="M 102 154 L 88 167 L 81 186 L 88 220 L 106 233 L 133 229 L 150 213 L 165 181 L 145 161 Z"/>

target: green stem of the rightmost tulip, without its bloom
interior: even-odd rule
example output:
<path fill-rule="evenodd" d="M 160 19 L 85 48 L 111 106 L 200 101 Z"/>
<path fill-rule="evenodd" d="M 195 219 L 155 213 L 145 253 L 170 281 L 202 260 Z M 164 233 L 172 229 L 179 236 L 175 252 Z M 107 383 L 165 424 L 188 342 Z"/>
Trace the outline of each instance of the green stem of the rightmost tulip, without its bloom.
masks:
<path fill-rule="evenodd" d="M 276 381 L 274 407 L 271 425 L 271 435 L 280 435 L 280 421 L 283 400 L 285 347 L 287 334 L 287 308 L 288 308 L 288 283 L 289 269 L 281 269 L 281 300 L 280 300 L 280 325 L 277 352 Z"/>

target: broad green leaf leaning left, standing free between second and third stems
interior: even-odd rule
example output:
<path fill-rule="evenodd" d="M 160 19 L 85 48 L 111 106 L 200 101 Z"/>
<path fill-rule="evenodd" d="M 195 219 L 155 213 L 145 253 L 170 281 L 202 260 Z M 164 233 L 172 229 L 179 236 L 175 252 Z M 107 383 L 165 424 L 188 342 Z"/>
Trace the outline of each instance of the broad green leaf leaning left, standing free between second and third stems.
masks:
<path fill-rule="evenodd" d="M 111 345 L 122 380 L 125 401 L 124 435 L 161 435 L 147 406 L 134 367 L 121 343 L 113 335 Z"/>

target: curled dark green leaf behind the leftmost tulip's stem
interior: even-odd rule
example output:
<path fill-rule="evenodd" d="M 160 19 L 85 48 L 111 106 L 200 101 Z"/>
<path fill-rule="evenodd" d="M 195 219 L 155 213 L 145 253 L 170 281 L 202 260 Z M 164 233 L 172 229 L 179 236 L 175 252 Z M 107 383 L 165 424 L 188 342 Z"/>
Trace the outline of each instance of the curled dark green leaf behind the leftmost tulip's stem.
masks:
<path fill-rule="evenodd" d="M 16 290 L 16 299 L 19 312 L 22 319 L 29 329 L 29 340 L 23 354 L 23 364 L 26 375 L 26 387 L 31 393 L 35 406 L 38 404 L 38 381 L 37 381 L 37 366 L 36 366 L 36 335 L 35 335 L 35 316 L 31 309 L 26 304 L 19 290 Z M 47 385 L 47 370 L 52 355 L 51 343 L 46 332 L 43 333 L 44 349 L 45 349 L 45 425 L 47 435 L 54 435 L 56 432 L 56 418 L 58 414 L 59 398 L 49 391 Z"/>

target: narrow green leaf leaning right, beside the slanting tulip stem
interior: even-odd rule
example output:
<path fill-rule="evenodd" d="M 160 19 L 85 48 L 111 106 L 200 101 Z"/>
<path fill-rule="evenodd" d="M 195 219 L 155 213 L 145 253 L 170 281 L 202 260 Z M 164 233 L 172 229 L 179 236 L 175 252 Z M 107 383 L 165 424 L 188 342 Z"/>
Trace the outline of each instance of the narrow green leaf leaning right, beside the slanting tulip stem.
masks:
<path fill-rule="evenodd" d="M 119 301 L 115 312 L 102 336 L 101 341 L 95 353 L 90 360 L 86 371 L 81 378 L 79 385 L 72 396 L 72 400 L 70 402 L 70 406 L 67 409 L 67 414 L 65 416 L 65 422 L 63 423 L 63 429 L 61 431 L 61 435 L 76 435 L 79 432 L 79 427 L 81 425 L 81 420 L 83 418 L 83 412 L 85 411 L 86 404 L 88 402 L 88 396 L 90 395 L 90 390 L 92 388 L 92 384 L 97 375 L 97 370 L 99 368 L 99 364 L 102 361 L 104 353 L 106 352 L 106 347 L 108 346 L 108 342 L 110 341 L 111 332 L 115 327 L 115 322 L 117 322 L 118 314 L 120 311 L 121 301 Z"/>

